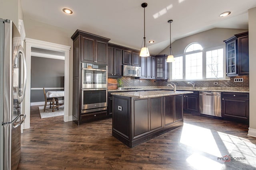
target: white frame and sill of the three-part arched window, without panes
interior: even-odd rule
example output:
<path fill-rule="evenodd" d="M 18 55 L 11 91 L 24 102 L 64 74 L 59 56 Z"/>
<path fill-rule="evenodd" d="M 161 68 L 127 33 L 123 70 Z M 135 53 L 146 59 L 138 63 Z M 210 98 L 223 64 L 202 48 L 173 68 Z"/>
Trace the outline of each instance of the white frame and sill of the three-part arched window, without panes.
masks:
<path fill-rule="evenodd" d="M 197 42 L 195 42 L 197 43 Z M 175 55 L 174 59 L 176 57 L 180 57 L 182 56 L 183 59 L 183 63 L 182 63 L 182 70 L 183 70 L 183 78 L 182 79 L 172 79 L 172 63 L 169 63 L 169 78 L 168 78 L 168 82 L 171 81 L 193 81 L 193 80 L 199 80 L 199 81 L 216 81 L 216 80 L 230 80 L 229 77 L 226 76 L 226 46 L 225 45 L 221 45 L 218 47 L 212 47 L 212 48 L 208 48 L 208 49 L 202 49 L 202 50 L 196 50 L 196 51 L 190 51 L 185 53 L 186 49 L 192 45 L 194 43 L 190 43 L 185 49 L 184 49 L 184 53 L 181 55 Z M 199 45 L 201 45 L 200 43 L 198 43 Z M 202 45 L 201 45 L 202 46 Z M 206 78 L 206 51 L 213 51 L 213 50 L 217 50 L 217 49 L 223 49 L 223 78 Z M 192 53 L 198 53 L 198 52 L 202 52 L 202 79 L 186 79 L 186 55 L 188 54 L 192 54 Z"/>

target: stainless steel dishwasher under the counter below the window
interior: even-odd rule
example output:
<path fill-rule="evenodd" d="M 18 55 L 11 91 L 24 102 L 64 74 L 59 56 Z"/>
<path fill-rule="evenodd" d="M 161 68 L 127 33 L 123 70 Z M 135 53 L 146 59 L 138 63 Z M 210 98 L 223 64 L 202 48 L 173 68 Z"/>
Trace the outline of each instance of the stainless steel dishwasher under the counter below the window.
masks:
<path fill-rule="evenodd" d="M 199 92 L 199 112 L 221 117 L 221 92 Z"/>

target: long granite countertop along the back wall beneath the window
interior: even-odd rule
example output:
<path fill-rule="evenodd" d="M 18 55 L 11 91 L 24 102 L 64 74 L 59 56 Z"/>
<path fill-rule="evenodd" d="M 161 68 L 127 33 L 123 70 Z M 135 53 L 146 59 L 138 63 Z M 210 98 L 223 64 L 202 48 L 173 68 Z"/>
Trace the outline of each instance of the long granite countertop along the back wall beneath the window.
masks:
<path fill-rule="evenodd" d="M 153 88 L 150 88 L 150 86 L 147 87 L 142 87 L 140 89 L 122 89 L 122 90 L 118 90 L 118 89 L 114 89 L 114 90 L 108 90 L 108 92 L 124 92 L 124 91 L 138 91 L 138 90 L 173 90 L 173 88 L 169 87 L 165 87 L 165 86 L 160 86 L 160 88 L 154 88 L 155 86 L 153 86 Z M 229 88 L 229 90 L 226 89 L 211 89 L 211 88 L 196 88 L 196 89 L 192 89 L 192 88 L 184 88 L 184 87 L 177 87 L 176 90 L 181 90 L 181 91 L 207 91 L 207 92 L 236 92 L 236 93 L 249 93 L 249 90 L 244 90 L 244 89 L 232 89 Z"/>

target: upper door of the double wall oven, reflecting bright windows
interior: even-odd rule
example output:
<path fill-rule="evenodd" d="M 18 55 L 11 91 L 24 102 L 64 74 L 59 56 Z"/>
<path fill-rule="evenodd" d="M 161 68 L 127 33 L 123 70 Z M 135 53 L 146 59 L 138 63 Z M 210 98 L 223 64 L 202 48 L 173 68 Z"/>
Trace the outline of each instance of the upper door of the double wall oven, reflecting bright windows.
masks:
<path fill-rule="evenodd" d="M 82 88 L 108 88 L 107 70 L 82 68 Z"/>

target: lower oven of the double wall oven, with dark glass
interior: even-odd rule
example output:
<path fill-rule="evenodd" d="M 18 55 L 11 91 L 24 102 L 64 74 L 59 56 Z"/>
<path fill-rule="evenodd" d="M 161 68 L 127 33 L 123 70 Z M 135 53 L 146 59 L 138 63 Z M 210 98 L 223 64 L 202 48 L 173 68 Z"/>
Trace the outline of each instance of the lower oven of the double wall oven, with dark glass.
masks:
<path fill-rule="evenodd" d="M 106 88 L 82 89 L 82 113 L 107 109 Z"/>

